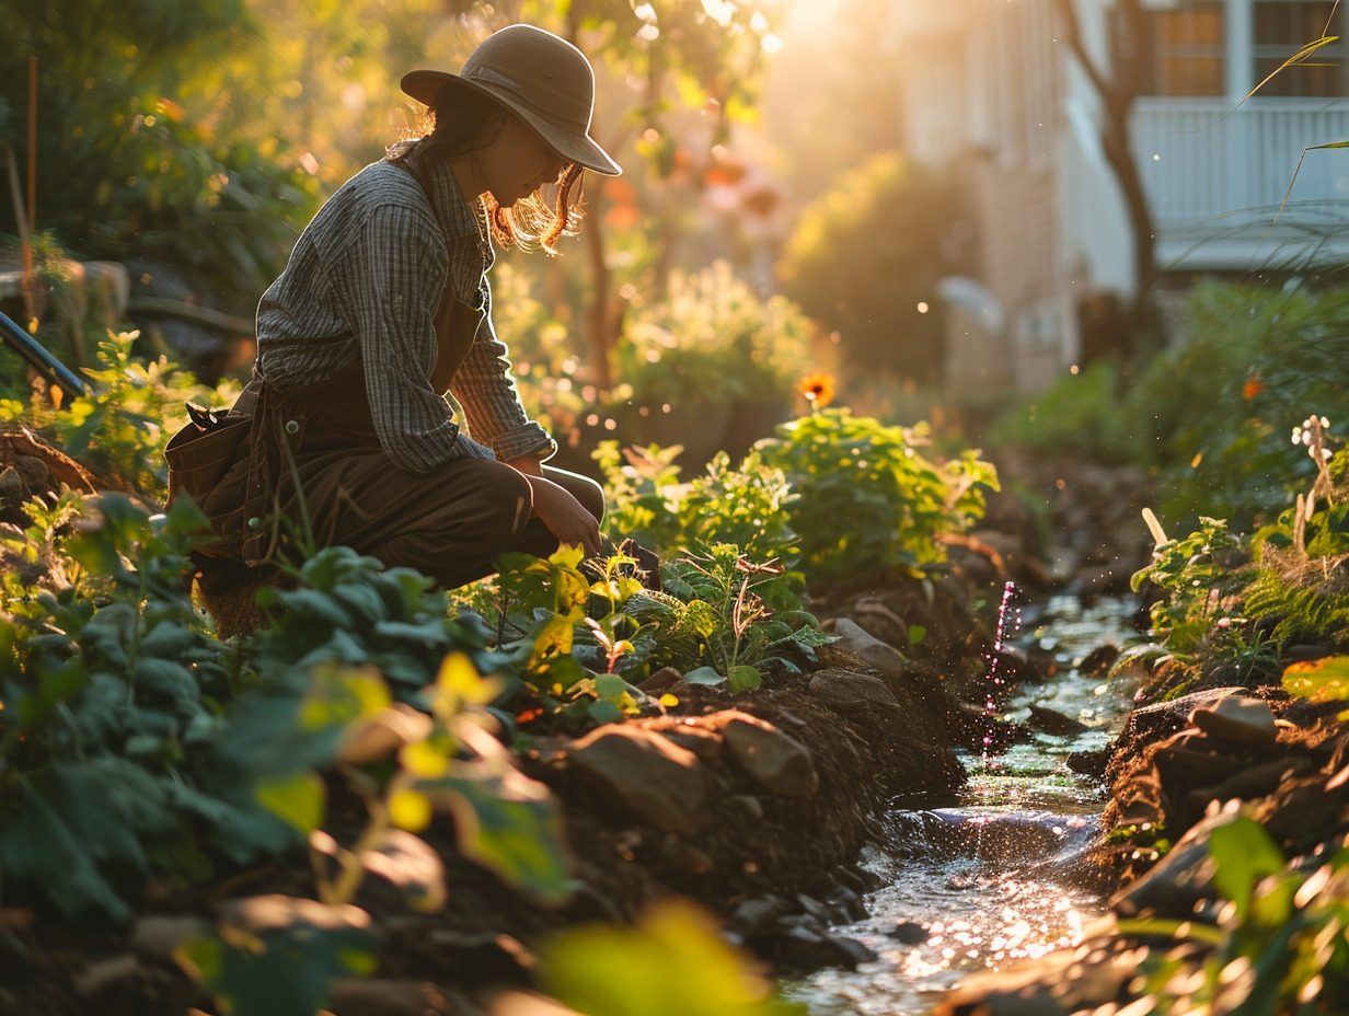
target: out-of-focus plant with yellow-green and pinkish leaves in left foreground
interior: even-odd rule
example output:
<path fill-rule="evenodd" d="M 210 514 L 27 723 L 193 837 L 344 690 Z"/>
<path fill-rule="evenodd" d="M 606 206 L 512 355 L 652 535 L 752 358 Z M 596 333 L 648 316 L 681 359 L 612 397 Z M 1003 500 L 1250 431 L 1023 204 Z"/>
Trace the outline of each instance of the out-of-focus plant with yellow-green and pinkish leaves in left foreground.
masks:
<path fill-rule="evenodd" d="M 415 911 L 445 904 L 441 857 L 417 835 L 434 811 L 453 816 L 465 858 L 509 884 L 550 901 L 569 889 L 561 815 L 548 789 L 519 773 L 490 733 L 484 707 L 498 683 L 465 654 L 445 657 L 428 685 L 424 723 L 393 711 L 403 731 L 397 750 L 387 719 L 393 696 L 379 671 L 326 662 L 310 669 L 310 681 L 290 729 L 268 741 L 285 743 L 294 730 L 336 731 L 340 738 L 336 745 L 329 739 L 322 760 L 344 766 L 370 819 L 356 842 L 344 846 L 322 830 L 325 784 L 313 769 L 295 768 L 304 757 L 264 754 L 274 760 L 272 779 L 259 785 L 259 800 L 308 839 L 318 900 L 250 900 L 244 922 L 227 919 L 220 930 L 178 943 L 178 963 L 235 1012 L 314 1012 L 326 1004 L 333 980 L 375 971 L 370 915 L 353 905 L 368 874 L 391 881 Z M 384 776 L 391 752 L 395 765 Z"/>

